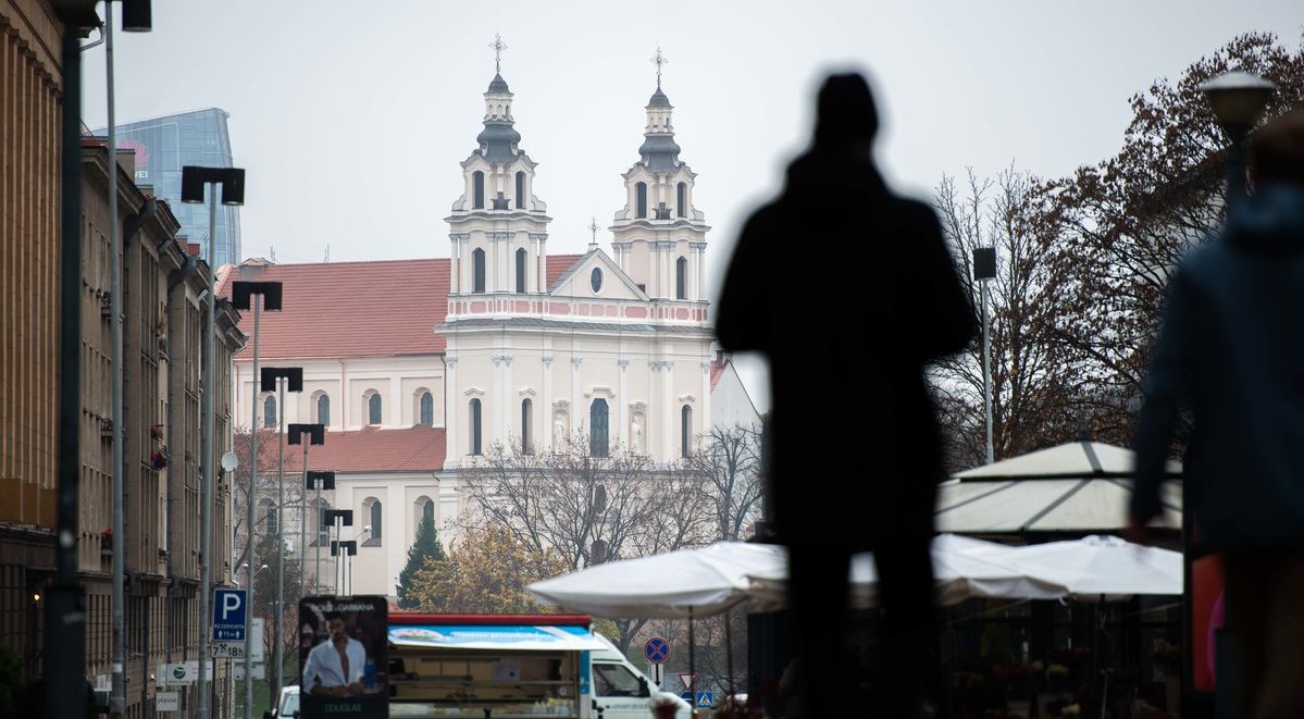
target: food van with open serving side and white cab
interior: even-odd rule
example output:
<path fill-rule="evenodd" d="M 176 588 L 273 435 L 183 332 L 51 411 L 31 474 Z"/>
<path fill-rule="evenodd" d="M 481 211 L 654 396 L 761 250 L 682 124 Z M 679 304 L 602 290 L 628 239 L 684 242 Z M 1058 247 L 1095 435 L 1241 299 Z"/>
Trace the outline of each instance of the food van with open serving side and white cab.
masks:
<path fill-rule="evenodd" d="M 666 694 L 588 615 L 390 612 L 387 649 L 394 718 L 649 719 Z"/>

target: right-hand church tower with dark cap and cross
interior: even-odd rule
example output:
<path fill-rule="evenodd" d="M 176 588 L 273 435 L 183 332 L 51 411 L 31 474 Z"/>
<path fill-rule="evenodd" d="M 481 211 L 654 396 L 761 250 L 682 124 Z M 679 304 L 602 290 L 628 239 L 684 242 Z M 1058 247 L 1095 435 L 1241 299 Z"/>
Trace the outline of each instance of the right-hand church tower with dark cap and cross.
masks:
<path fill-rule="evenodd" d="M 626 204 L 615 213 L 612 249 L 617 262 L 653 300 L 707 301 L 707 231 L 692 206 L 696 175 L 679 159 L 670 98 L 661 89 L 669 60 L 656 50 L 656 90 L 648 99 L 639 159 L 622 177 Z"/>

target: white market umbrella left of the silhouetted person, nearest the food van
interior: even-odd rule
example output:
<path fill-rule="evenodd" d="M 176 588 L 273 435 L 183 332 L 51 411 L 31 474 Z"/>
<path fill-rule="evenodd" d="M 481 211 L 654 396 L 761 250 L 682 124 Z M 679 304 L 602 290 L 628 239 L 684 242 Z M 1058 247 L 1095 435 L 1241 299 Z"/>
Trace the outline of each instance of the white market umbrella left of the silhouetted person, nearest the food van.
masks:
<path fill-rule="evenodd" d="M 535 582 L 535 599 L 602 617 L 704 617 L 748 599 L 747 575 L 786 573 L 775 544 L 717 542 L 708 547 L 615 560 Z"/>

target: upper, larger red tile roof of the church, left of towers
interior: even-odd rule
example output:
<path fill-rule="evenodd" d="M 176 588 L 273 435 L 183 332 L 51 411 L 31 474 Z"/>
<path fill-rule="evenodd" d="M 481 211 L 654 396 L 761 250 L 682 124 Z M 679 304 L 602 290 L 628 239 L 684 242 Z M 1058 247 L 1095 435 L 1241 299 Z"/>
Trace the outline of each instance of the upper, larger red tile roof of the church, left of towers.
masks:
<path fill-rule="evenodd" d="M 449 311 L 449 265 L 447 258 L 267 262 L 258 282 L 282 283 L 282 311 L 258 314 L 258 359 L 443 352 L 443 337 L 434 328 Z M 240 273 L 223 270 L 218 296 L 230 298 Z M 240 314 L 241 330 L 252 334 L 253 313 Z"/>

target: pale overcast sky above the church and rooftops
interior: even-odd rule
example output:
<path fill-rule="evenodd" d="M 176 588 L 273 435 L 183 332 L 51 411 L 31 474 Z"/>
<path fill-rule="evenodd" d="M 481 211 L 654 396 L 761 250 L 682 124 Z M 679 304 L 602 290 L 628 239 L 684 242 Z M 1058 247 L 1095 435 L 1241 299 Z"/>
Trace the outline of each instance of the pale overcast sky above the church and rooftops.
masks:
<path fill-rule="evenodd" d="M 329 245 L 331 261 L 447 257 L 443 218 L 501 34 L 520 147 L 553 218 L 549 252 L 584 252 L 591 217 L 609 251 L 660 47 L 681 159 L 712 226 L 715 296 L 738 227 L 805 146 L 831 69 L 870 77 L 884 172 L 928 197 L 968 167 L 1048 177 L 1104 159 L 1129 97 L 1251 30 L 1297 48 L 1304 3 L 164 0 L 153 33 L 115 34 L 116 116 L 231 114 L 246 256 L 318 262 Z M 103 127 L 104 46 L 85 60 L 86 124 Z M 776 281 L 803 277 L 794 265 Z M 763 365 L 739 368 L 768 408 Z"/>

